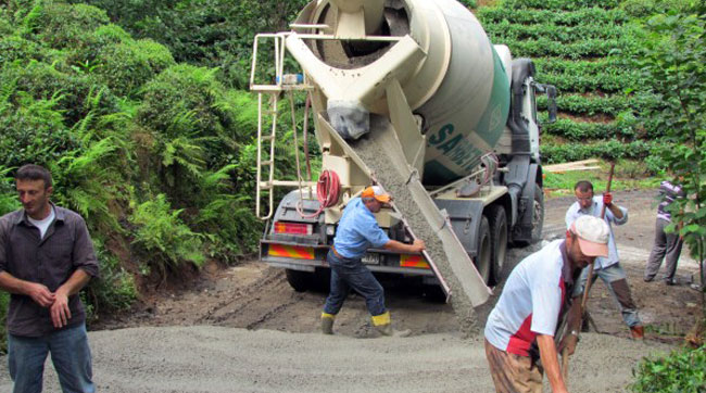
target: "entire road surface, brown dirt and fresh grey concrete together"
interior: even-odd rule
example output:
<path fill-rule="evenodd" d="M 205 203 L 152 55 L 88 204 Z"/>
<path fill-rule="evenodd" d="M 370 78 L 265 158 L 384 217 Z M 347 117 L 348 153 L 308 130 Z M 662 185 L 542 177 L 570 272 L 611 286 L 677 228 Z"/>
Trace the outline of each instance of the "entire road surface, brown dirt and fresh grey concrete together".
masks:
<path fill-rule="evenodd" d="M 630 210 L 629 223 L 616 236 L 647 340 L 627 339 L 613 300 L 597 283 L 590 309 L 606 333 L 583 334 L 570 375 L 575 392 L 623 391 L 638 359 L 668 350 L 664 343 L 678 341 L 693 324 L 695 291 L 641 279 L 652 245 L 654 194 L 615 198 Z M 571 202 L 547 200 L 545 239 L 564 232 Z M 515 264 L 529 252 L 510 250 L 508 259 Z M 686 281 L 696 269 L 682 257 L 680 279 Z M 388 287 L 386 295 L 393 322 L 412 329 L 413 338 L 358 340 L 375 334 L 355 295 L 337 319 L 338 334 L 323 337 L 317 330 L 325 293 L 294 292 L 281 270 L 260 263 L 211 266 L 193 289 L 146 299 L 131 313 L 94 325 L 102 329 L 89 333 L 96 381 L 99 391 L 113 392 L 492 391 L 482 342 L 462 339 L 450 305 L 408 286 Z M 58 392 L 53 370 L 45 378 L 45 391 Z M 10 390 L 5 367 L 0 390 Z"/>

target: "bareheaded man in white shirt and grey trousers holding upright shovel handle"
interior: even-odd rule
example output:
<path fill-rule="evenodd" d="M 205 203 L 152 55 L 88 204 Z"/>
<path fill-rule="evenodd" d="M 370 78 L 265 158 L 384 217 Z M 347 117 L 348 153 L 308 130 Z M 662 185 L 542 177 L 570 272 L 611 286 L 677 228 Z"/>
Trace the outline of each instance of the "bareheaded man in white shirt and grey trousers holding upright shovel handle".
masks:
<path fill-rule="evenodd" d="M 608 291 L 613 294 L 620 306 L 622 320 L 630 328 L 630 334 L 635 340 L 644 338 L 644 328 L 638 315 L 638 306 L 632 300 L 630 287 L 628 286 L 628 276 L 620 266 L 618 256 L 618 248 L 616 246 L 615 236 L 610 224 L 623 225 L 628 221 L 628 210 L 613 203 L 613 194 L 605 192 L 602 196 L 593 195 L 593 185 L 590 181 L 582 180 L 573 187 L 576 194 L 576 202 L 569 206 L 566 212 L 566 227 L 569 228 L 577 217 L 589 215 L 600 217 L 605 205 L 605 221 L 610 228 L 610 241 L 608 242 L 608 250 L 610 253 L 607 257 L 600 257 L 595 259 L 594 275 L 591 278 L 591 284 L 595 281 L 596 276 L 601 277 Z M 579 286 L 573 293 L 575 296 L 580 296 L 583 293 L 583 288 L 587 284 L 589 269 L 584 269 L 579 279 Z M 584 318 L 585 319 L 585 318 Z"/>

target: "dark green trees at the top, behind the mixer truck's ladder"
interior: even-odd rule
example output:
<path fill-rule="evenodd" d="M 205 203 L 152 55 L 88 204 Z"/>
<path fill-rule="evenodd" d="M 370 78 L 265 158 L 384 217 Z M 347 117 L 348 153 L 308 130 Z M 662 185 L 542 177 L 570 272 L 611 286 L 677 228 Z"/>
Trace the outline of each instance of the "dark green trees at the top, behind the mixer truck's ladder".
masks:
<path fill-rule="evenodd" d="M 287 29 L 308 2 L 227 0 L 71 0 L 108 12 L 135 38 L 153 39 L 169 48 L 177 62 L 217 67 L 218 79 L 244 89 L 255 33 Z"/>

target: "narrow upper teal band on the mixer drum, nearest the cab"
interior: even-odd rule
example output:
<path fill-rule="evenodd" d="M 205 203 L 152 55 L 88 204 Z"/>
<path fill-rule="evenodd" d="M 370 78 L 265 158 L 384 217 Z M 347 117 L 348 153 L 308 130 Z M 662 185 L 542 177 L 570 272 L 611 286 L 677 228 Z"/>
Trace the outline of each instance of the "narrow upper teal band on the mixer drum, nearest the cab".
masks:
<path fill-rule="evenodd" d="M 483 115 L 478 122 L 476 134 L 488 145 L 494 148 L 497 140 L 503 135 L 507 114 L 509 113 L 509 83 L 503 62 L 497 56 L 495 48 L 493 51 L 493 89 L 490 93 L 490 100 Z"/>

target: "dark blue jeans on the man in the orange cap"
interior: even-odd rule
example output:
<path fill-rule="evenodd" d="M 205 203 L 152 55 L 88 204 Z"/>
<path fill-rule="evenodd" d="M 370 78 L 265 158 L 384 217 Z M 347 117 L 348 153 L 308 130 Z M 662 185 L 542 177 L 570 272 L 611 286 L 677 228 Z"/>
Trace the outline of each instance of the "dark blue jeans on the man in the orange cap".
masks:
<path fill-rule="evenodd" d="M 333 251 L 329 251 L 326 261 L 331 267 L 331 291 L 326 297 L 324 313 L 338 314 L 351 289 L 365 297 L 370 315 L 377 316 L 387 312 L 382 286 L 361 259 L 339 257 Z"/>

